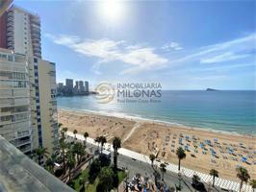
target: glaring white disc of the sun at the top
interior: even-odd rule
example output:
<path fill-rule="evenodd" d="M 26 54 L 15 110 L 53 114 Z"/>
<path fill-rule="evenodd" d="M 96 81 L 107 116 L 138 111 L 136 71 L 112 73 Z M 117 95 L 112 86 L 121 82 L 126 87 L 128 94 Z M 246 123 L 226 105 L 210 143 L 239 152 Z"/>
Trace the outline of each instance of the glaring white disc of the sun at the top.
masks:
<path fill-rule="evenodd" d="M 120 0 L 105 0 L 101 2 L 99 12 L 107 21 L 116 23 L 124 16 L 125 9 Z"/>

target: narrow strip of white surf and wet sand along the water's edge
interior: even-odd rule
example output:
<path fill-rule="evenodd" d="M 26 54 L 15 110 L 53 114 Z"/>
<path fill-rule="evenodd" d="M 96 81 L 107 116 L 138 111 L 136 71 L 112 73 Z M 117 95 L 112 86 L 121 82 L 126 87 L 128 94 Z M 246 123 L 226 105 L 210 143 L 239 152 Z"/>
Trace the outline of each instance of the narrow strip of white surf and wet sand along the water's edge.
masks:
<path fill-rule="evenodd" d="M 108 113 L 108 112 L 102 112 L 102 111 L 96 111 L 96 110 L 90 110 L 90 109 L 79 109 L 79 108 L 58 108 L 58 110 L 64 110 L 64 111 L 71 111 L 71 112 L 81 112 L 85 114 L 95 114 L 95 115 L 102 115 L 102 116 L 108 116 L 108 117 L 116 117 L 116 118 L 122 118 L 129 121 L 136 121 L 136 122 L 142 122 L 142 123 L 155 123 L 162 126 L 176 126 L 181 129 L 187 129 L 191 131 L 200 131 L 200 132 L 211 132 L 211 133 L 220 133 L 225 135 L 235 135 L 235 136 L 245 136 L 250 139 L 256 138 L 256 134 L 249 134 L 249 133 L 240 133 L 240 132 L 227 132 L 227 131 L 220 131 L 220 130 L 214 130 L 209 128 L 197 128 L 197 127 L 190 127 L 186 126 L 180 123 L 171 123 L 163 120 L 157 120 L 157 119 L 150 119 L 146 117 L 139 117 L 139 116 L 132 116 L 125 113 Z"/>

